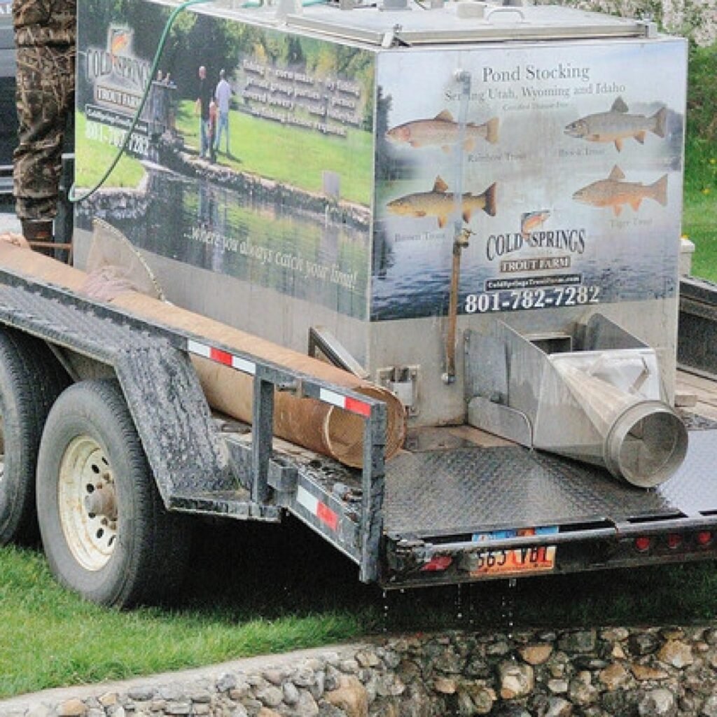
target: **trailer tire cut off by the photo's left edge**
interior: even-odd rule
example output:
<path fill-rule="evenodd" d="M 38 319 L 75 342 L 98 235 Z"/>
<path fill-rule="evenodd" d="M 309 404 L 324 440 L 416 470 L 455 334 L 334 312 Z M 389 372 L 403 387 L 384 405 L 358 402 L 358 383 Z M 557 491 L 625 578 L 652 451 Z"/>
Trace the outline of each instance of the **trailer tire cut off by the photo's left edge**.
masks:
<path fill-rule="evenodd" d="M 49 409 L 69 383 L 45 343 L 0 330 L 0 545 L 37 543 L 37 450 Z"/>

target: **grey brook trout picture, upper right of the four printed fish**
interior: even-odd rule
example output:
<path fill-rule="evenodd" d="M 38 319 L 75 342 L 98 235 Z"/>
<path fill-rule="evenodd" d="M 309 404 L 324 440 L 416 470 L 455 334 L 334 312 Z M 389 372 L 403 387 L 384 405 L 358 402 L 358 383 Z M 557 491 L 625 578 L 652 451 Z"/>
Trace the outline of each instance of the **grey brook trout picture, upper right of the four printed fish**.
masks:
<path fill-rule="evenodd" d="M 589 142 L 614 142 L 619 152 L 622 151 L 622 141 L 627 138 L 632 137 L 642 144 L 647 132 L 664 137 L 667 117 L 668 110 L 665 107 L 651 117 L 628 115 L 627 105 L 619 97 L 612 103 L 609 112 L 581 117 L 567 125 L 565 133 Z"/>

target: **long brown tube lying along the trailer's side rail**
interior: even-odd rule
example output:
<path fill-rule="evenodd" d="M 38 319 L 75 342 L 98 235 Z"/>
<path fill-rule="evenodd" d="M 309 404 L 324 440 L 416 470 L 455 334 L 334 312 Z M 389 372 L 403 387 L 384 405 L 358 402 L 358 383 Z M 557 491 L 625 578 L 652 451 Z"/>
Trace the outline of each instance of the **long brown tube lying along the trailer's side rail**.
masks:
<path fill-rule="evenodd" d="M 0 265 L 75 293 L 83 293 L 87 283 L 88 275 L 85 272 L 68 267 L 50 257 L 2 242 Z M 257 359 L 271 361 L 315 379 L 380 399 L 386 403 L 387 409 L 384 452 L 386 459 L 394 456 L 403 445 L 406 435 L 403 405 L 394 394 L 381 386 L 359 379 L 324 361 L 140 293 L 120 293 L 113 298 L 111 304 L 153 323 L 189 331 L 206 339 L 209 344 L 221 343 L 234 351 L 250 353 Z M 252 377 L 209 359 L 192 356 L 191 360 L 209 405 L 240 421 L 251 423 Z M 331 456 L 345 465 L 361 467 L 363 464 L 364 420 L 330 404 L 315 399 L 296 398 L 286 392 L 276 392 L 274 432 L 278 437 Z"/>

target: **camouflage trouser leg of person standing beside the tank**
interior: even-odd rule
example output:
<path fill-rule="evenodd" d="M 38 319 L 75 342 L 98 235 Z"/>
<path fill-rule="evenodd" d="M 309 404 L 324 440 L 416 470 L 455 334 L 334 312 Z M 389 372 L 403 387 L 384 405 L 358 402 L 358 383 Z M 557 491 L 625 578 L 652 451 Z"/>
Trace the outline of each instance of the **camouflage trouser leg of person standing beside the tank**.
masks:
<path fill-rule="evenodd" d="M 75 101 L 75 0 L 16 0 L 19 143 L 13 184 L 20 219 L 57 212 L 62 147 Z"/>

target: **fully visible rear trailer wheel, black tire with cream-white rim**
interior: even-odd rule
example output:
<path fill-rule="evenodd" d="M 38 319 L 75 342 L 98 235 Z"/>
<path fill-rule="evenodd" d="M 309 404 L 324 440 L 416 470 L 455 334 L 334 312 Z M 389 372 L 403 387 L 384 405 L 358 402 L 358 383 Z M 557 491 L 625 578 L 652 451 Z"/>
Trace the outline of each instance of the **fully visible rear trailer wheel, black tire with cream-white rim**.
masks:
<path fill-rule="evenodd" d="M 116 381 L 82 381 L 47 417 L 37 506 L 54 576 L 99 604 L 157 602 L 179 587 L 189 549 L 168 513 Z"/>

